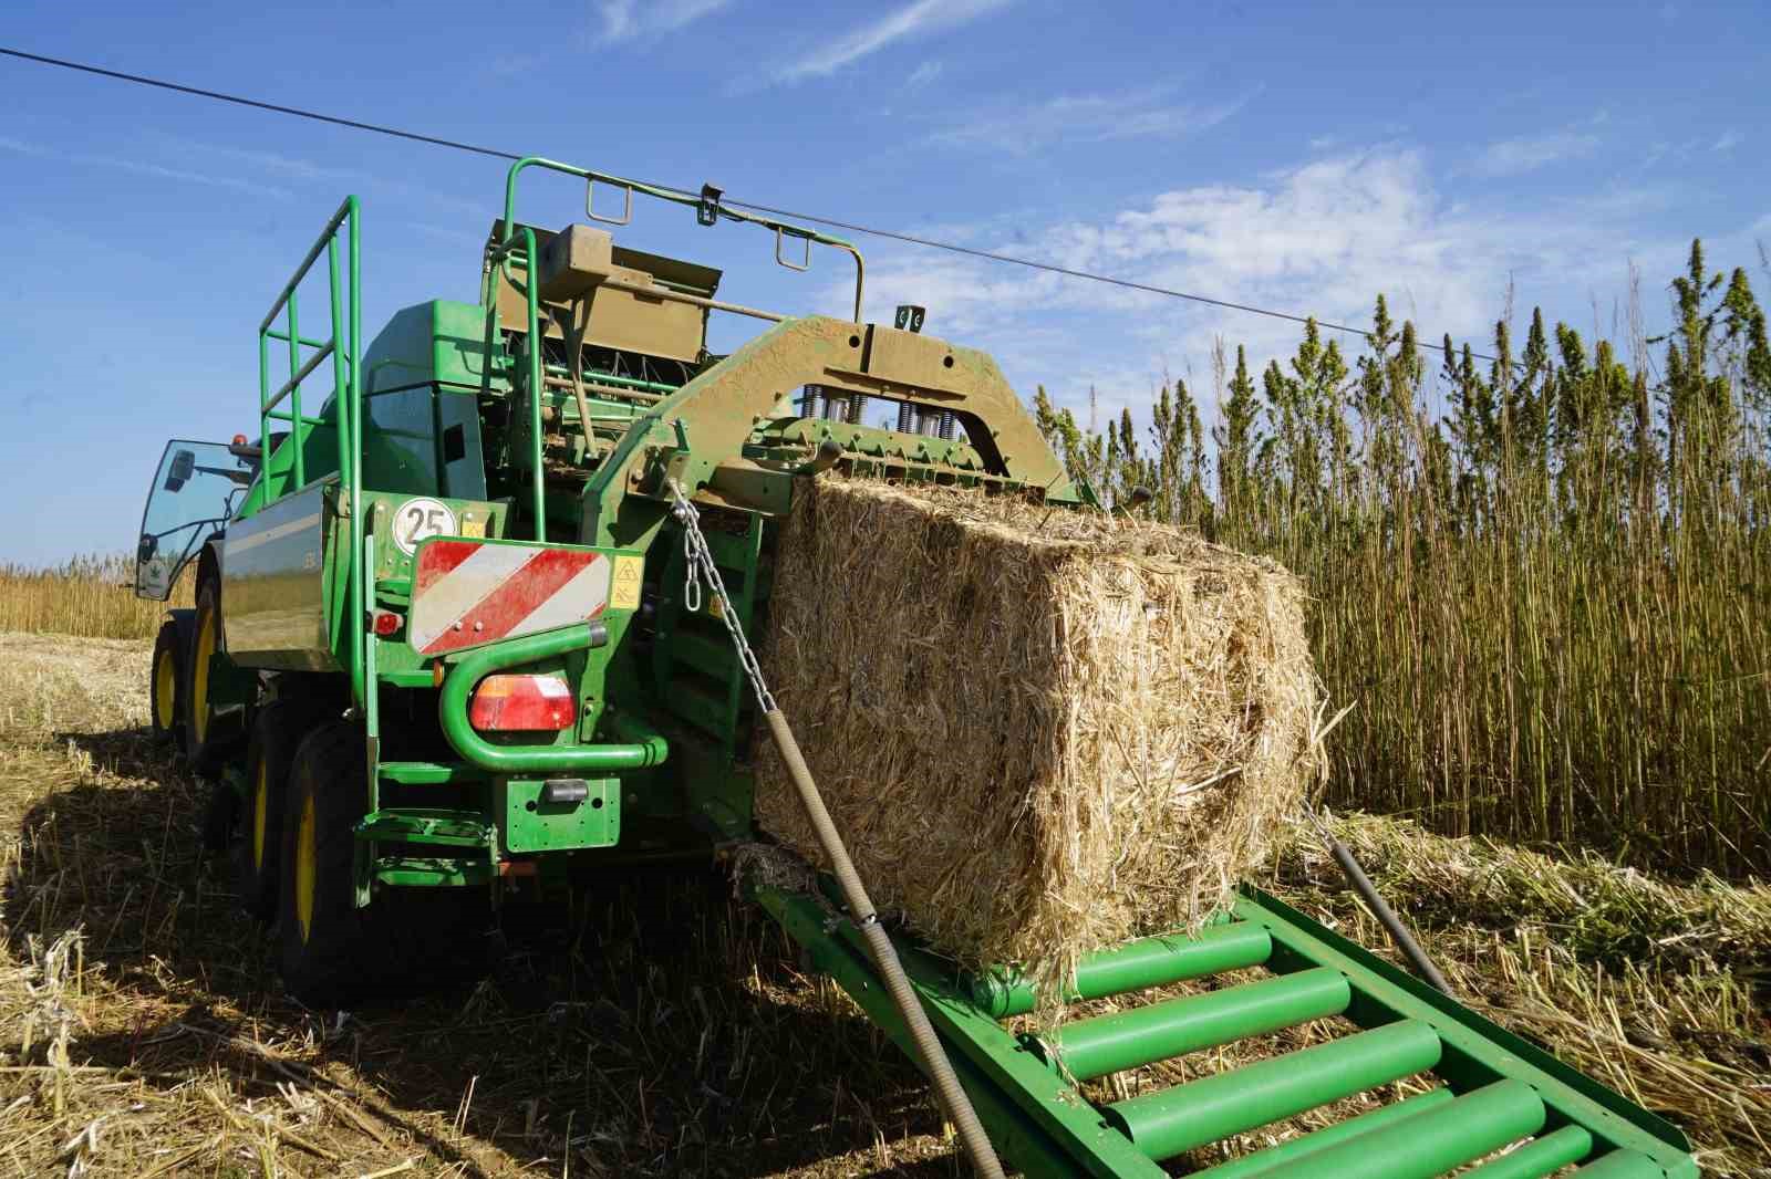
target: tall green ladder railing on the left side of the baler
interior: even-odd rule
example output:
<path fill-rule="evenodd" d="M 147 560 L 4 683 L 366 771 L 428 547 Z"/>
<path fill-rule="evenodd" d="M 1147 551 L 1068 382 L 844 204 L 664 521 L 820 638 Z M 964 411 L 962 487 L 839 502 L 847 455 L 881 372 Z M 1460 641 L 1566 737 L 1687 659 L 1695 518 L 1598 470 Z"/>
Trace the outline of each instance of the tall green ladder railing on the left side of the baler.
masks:
<path fill-rule="evenodd" d="M 345 232 L 345 283 L 340 283 L 338 230 Z M 331 331 L 324 340 L 301 335 L 299 294 L 301 281 L 313 269 L 321 253 L 326 255 L 328 312 Z M 356 196 L 345 196 L 338 212 L 331 216 L 326 228 L 315 239 L 313 248 L 296 267 L 294 276 L 283 283 L 282 294 L 271 304 L 264 322 L 259 324 L 259 469 L 264 478 L 264 503 L 282 499 L 283 489 L 301 489 L 308 483 L 303 427 L 319 428 L 335 425 L 338 434 L 338 482 L 347 503 L 351 519 L 351 547 L 347 552 L 363 552 L 363 267 L 361 267 L 361 214 Z M 276 322 L 283 324 L 278 329 Z M 289 347 L 289 379 L 271 391 L 271 342 Z M 313 349 L 312 356 L 301 358 L 303 349 Z M 301 412 L 301 382 L 315 368 L 331 359 L 333 368 L 333 412 L 335 423 Z M 283 400 L 289 407 L 283 409 Z M 289 423 L 290 443 L 290 478 L 280 487 L 271 476 L 271 423 Z M 363 703 L 363 575 L 365 568 L 356 568 L 349 575 L 349 607 L 344 611 L 345 662 L 351 671 L 351 690 L 356 703 Z"/>

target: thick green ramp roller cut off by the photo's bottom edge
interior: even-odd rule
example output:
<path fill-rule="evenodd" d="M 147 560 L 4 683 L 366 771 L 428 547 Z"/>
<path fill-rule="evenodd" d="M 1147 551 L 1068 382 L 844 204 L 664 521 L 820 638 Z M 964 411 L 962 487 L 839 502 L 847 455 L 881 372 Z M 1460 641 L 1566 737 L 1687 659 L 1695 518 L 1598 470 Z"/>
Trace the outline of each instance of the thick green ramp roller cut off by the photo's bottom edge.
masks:
<path fill-rule="evenodd" d="M 1307 1160 L 1275 1167 L 1261 1179 L 1311 1175 L 1433 1179 L 1509 1142 L 1534 1135 L 1543 1126 L 1544 1103 L 1537 1090 L 1521 1080 L 1500 1080 L 1420 1117 L 1374 1129 Z"/>

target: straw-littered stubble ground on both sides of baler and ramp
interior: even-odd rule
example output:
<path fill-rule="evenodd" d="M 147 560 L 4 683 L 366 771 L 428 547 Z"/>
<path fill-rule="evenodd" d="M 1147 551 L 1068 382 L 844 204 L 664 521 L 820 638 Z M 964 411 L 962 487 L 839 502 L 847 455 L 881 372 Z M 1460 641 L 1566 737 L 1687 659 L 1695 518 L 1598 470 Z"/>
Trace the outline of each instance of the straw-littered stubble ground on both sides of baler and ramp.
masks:
<path fill-rule="evenodd" d="M 0 1175 L 963 1174 L 916 1069 L 715 871 L 586 889 L 421 998 L 305 1009 L 200 852 L 207 786 L 147 736 L 149 644 L 0 659 Z M 1771 1177 L 1771 894 L 1337 830 L 1477 1007 L 1711 1174 Z M 1381 945 L 1319 855 L 1268 883 Z"/>

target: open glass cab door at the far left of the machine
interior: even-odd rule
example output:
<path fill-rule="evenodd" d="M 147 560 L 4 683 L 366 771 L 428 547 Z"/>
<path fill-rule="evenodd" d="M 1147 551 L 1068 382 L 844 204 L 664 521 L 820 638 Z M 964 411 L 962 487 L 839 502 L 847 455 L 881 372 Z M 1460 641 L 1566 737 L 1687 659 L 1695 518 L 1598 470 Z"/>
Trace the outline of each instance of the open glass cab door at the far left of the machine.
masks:
<path fill-rule="evenodd" d="M 159 457 L 135 545 L 135 597 L 165 602 L 179 574 L 221 533 L 257 464 L 227 443 L 172 439 Z"/>

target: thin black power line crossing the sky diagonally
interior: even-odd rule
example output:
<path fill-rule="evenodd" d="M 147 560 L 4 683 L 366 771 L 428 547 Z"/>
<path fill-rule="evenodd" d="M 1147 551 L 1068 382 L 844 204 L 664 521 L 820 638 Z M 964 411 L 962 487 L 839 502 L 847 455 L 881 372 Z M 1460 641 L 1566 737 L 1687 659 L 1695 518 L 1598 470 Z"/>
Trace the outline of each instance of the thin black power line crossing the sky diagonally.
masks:
<path fill-rule="evenodd" d="M 352 131 L 370 131 L 374 135 L 386 135 L 386 136 L 393 136 L 397 140 L 409 140 L 413 143 L 429 143 L 432 147 L 448 147 L 452 150 L 471 152 L 475 156 L 489 156 L 492 159 L 512 159 L 512 161 L 522 159 L 522 156 L 519 156 L 515 152 L 505 152 L 505 150 L 499 150 L 496 147 L 482 147 L 478 143 L 464 143 L 460 140 L 445 140 L 445 138 L 436 136 L 436 135 L 421 135 L 418 131 L 404 131 L 400 127 L 390 127 L 390 126 L 377 124 L 377 122 L 363 122 L 360 119 L 344 119 L 340 115 L 326 115 L 326 113 L 321 113 L 321 112 L 313 112 L 313 110 L 303 110 L 299 106 L 283 106 L 280 103 L 266 103 L 262 99 L 243 97 L 239 94 L 225 94 L 221 90 L 205 90 L 202 87 L 188 87 L 188 85 L 182 85 L 182 83 L 177 83 L 177 81 L 166 81 L 163 78 L 149 78 L 145 74 L 128 74 L 128 73 L 124 73 L 120 69 L 104 69 L 101 66 L 90 66 L 87 62 L 73 62 L 73 60 L 60 58 L 60 57 L 44 57 L 43 53 L 27 53 L 25 50 L 12 50 L 12 48 L 7 48 L 7 46 L 0 46 L 0 55 L 4 55 L 4 57 L 14 57 L 14 58 L 19 58 L 19 60 L 25 60 L 25 62 L 35 62 L 39 66 L 55 66 L 57 69 L 71 69 L 71 71 L 83 73 L 83 74 L 96 74 L 99 78 L 112 78 L 115 81 L 129 81 L 129 83 L 142 85 L 142 87 L 154 87 L 158 90 L 172 90 L 175 94 L 189 94 L 193 97 L 205 97 L 205 99 L 211 99 L 211 101 L 216 101 L 216 103 L 232 103 L 236 106 L 250 106 L 253 110 L 266 110 L 266 112 L 271 112 L 275 115 L 292 115 L 296 119 L 310 119 L 313 122 L 326 122 L 326 124 L 331 124 L 335 127 L 351 127 Z M 689 189 L 678 188 L 675 184 L 652 184 L 650 181 L 639 181 L 639 182 L 641 184 L 648 184 L 650 188 L 668 188 L 668 189 L 673 189 L 673 191 L 689 193 Z M 1141 283 L 1141 281 L 1133 281 L 1130 278 L 1116 278 L 1112 274 L 1096 274 L 1093 271 L 1079 271 L 1079 269 L 1073 269 L 1073 267 L 1068 267 L 1068 266 L 1057 266 L 1054 262 L 1038 262 L 1034 258 L 1018 258 L 1018 257 L 1015 257 L 1011 253 L 995 253 L 992 250 L 976 250 L 972 246 L 960 246 L 960 244 L 951 243 L 951 241 L 937 241 L 933 237 L 917 237 L 916 234 L 903 234 L 903 232 L 898 232 L 898 230 L 884 230 L 884 228 L 875 228 L 871 225 L 859 225 L 855 221 L 839 221 L 836 218 L 825 218 L 825 216 L 818 216 L 818 214 L 813 214 L 813 212 L 795 212 L 792 209 L 777 209 L 777 207 L 772 207 L 772 205 L 760 205 L 760 204 L 751 204 L 751 202 L 744 202 L 744 200 L 733 200 L 730 196 L 724 196 L 723 202 L 728 204 L 728 205 L 733 205 L 737 209 L 747 209 L 751 212 L 763 212 L 763 214 L 777 216 L 777 218 L 792 218 L 795 221 L 811 221 L 815 225 L 829 225 L 832 228 L 839 228 L 839 230 L 845 230 L 845 232 L 850 232 L 850 234 L 866 234 L 870 237 L 884 237 L 887 241 L 901 241 L 901 243 L 907 243 L 907 244 L 912 244 L 912 246 L 924 246 L 928 250 L 946 250 L 949 253 L 958 253 L 958 255 L 965 255 L 965 257 L 972 257 L 972 258 L 983 258 L 985 262 L 1002 262 L 1006 266 L 1022 266 L 1022 267 L 1027 267 L 1027 269 L 1032 269 L 1032 271 L 1045 271 L 1047 274 L 1063 274 L 1066 278 L 1080 278 L 1080 280 L 1086 280 L 1086 281 L 1091 281 L 1091 283 L 1107 283 L 1109 287 L 1121 287 L 1125 290 L 1141 290 L 1144 294 L 1165 296 L 1169 299 L 1185 299 L 1188 303 L 1201 303 L 1204 306 L 1215 306 L 1215 308 L 1222 308 L 1222 310 L 1227 310 L 1227 312 L 1245 312 L 1249 315 L 1266 315 L 1268 319 L 1282 319 L 1282 320 L 1293 322 L 1293 324 L 1309 324 L 1309 322 L 1314 320 L 1318 328 L 1326 329 L 1326 331 L 1341 331 L 1341 333 L 1360 336 L 1364 340 L 1371 338 L 1371 333 L 1365 331 L 1364 328 L 1353 328 L 1350 324 L 1335 324 L 1335 322 L 1328 322 L 1328 320 L 1323 320 L 1323 319 L 1314 319 L 1311 315 L 1295 315 L 1291 312 L 1277 312 L 1273 308 L 1254 306 L 1252 303 L 1233 303 L 1229 299 L 1213 299 L 1211 296 L 1192 294 L 1188 290 L 1176 290 L 1172 287 L 1156 287 L 1153 283 Z M 1433 352 L 1443 352 L 1445 351 L 1443 345 L 1440 345 L 1440 343 L 1427 343 L 1427 342 L 1417 342 L 1417 347 L 1429 349 Z M 1477 359 L 1486 359 L 1486 361 L 1495 359 L 1493 356 L 1486 356 L 1486 354 L 1481 354 L 1481 352 L 1472 352 L 1472 356 L 1475 356 Z"/>

